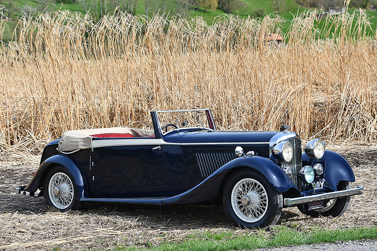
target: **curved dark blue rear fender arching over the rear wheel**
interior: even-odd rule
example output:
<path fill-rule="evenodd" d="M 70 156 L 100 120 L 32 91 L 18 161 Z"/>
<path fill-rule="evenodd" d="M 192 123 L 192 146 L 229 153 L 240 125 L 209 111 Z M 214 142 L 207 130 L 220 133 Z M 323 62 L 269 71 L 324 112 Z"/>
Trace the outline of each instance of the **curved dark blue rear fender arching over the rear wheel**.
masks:
<path fill-rule="evenodd" d="M 73 177 L 73 181 L 76 186 L 76 191 L 78 195 L 78 199 L 86 198 L 86 189 L 85 189 L 85 182 L 83 180 L 83 175 L 80 171 L 78 164 L 74 163 L 73 160 L 68 158 L 65 155 L 54 155 L 48 159 L 46 159 L 38 168 L 37 172 L 33 176 L 30 183 L 26 186 L 25 191 L 30 193 L 34 193 L 40 186 L 43 176 L 50 170 L 50 168 L 54 165 L 62 165 L 66 169 L 68 169 L 69 173 Z"/>

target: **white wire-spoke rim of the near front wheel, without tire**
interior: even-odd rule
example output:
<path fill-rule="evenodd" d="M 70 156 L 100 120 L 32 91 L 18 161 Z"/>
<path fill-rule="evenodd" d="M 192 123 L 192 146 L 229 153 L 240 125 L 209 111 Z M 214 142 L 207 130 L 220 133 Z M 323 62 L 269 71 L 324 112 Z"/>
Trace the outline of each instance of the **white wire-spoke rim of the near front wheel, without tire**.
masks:
<path fill-rule="evenodd" d="M 268 196 L 265 188 L 257 180 L 240 180 L 231 193 L 232 207 L 236 215 L 245 222 L 257 222 L 266 214 Z"/>

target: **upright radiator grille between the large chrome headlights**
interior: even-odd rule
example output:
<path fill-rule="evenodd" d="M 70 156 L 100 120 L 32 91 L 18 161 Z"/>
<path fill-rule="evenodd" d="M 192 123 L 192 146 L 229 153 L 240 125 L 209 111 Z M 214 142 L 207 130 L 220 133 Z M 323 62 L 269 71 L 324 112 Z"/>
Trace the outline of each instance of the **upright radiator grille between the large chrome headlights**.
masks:
<path fill-rule="evenodd" d="M 292 182 L 295 184 L 297 188 L 300 190 L 302 189 L 302 181 L 299 176 L 299 172 L 302 168 L 302 162 L 301 162 L 301 154 L 302 154 L 302 148 L 301 148 L 301 140 L 297 138 L 286 140 L 289 143 L 292 144 L 293 147 L 293 158 L 288 163 L 282 163 L 281 167 L 291 167 L 292 168 Z"/>

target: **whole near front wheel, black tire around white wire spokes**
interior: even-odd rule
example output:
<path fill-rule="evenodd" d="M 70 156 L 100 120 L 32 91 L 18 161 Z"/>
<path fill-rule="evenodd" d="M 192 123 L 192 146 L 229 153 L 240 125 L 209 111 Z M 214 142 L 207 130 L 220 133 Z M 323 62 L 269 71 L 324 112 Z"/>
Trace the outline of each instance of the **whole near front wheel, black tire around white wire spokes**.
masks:
<path fill-rule="evenodd" d="M 275 224 L 281 214 L 282 202 L 281 193 L 273 189 L 263 175 L 251 170 L 234 173 L 223 191 L 225 213 L 239 227 Z"/>

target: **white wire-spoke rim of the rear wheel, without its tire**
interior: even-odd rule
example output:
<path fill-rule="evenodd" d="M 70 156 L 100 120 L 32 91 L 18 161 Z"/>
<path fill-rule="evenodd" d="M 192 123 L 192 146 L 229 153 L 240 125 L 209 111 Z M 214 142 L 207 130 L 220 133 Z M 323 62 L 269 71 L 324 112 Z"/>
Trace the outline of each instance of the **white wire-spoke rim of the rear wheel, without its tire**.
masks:
<path fill-rule="evenodd" d="M 48 183 L 48 195 L 58 209 L 65 209 L 74 198 L 73 183 L 65 173 L 55 173 Z"/>

